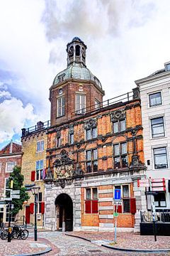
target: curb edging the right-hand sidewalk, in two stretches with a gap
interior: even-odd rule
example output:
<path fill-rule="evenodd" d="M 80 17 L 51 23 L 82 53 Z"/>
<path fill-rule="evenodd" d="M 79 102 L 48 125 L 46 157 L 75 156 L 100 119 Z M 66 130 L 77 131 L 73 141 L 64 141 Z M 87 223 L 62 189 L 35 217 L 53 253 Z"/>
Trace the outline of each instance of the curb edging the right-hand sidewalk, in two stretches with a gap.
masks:
<path fill-rule="evenodd" d="M 88 242 L 91 242 L 91 240 L 89 240 L 87 238 L 79 237 L 79 235 L 69 235 L 69 234 L 65 234 L 65 235 L 71 236 L 73 238 L 80 238 L 80 239 L 86 240 Z M 120 248 L 120 247 L 113 247 L 111 245 L 101 245 L 101 246 L 106 247 L 108 249 L 112 249 L 112 250 L 120 250 L 122 252 L 170 252 L 170 249 L 140 250 L 140 249 L 128 249 L 128 248 L 126 249 L 126 248 Z"/>

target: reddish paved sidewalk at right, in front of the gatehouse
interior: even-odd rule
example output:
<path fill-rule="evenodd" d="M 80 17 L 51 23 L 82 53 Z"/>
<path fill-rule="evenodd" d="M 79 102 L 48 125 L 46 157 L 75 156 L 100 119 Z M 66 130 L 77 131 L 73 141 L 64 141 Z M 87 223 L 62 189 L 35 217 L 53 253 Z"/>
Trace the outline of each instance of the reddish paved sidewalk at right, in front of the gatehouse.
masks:
<path fill-rule="evenodd" d="M 90 232 L 77 231 L 69 232 L 68 235 L 76 235 L 81 238 L 98 242 L 98 244 L 111 243 L 114 247 L 138 249 L 138 250 L 170 250 L 170 237 L 157 236 L 157 242 L 154 241 L 153 235 L 140 235 L 139 233 L 117 233 L 117 243 L 114 244 L 114 232 Z M 169 252 L 170 255 L 170 252 Z"/>

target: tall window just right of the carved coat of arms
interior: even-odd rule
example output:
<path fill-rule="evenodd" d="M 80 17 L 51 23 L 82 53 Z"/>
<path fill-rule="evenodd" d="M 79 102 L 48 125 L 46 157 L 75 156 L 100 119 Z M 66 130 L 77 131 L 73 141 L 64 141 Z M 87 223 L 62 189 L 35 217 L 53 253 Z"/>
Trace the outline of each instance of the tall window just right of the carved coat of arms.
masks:
<path fill-rule="evenodd" d="M 97 149 L 86 151 L 86 170 L 88 173 L 98 171 L 98 151 Z"/>

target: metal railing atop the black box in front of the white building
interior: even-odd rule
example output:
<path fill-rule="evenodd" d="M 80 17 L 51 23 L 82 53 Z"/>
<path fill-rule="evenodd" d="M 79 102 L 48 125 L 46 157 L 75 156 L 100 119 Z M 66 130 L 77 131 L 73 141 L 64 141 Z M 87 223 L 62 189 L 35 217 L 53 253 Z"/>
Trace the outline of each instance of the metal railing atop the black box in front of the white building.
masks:
<path fill-rule="evenodd" d="M 144 212 L 140 212 L 140 218 L 142 223 L 150 223 L 153 222 L 153 216 L 151 211 L 145 210 Z M 170 223 L 170 211 L 156 212 L 155 221 L 162 223 Z"/>

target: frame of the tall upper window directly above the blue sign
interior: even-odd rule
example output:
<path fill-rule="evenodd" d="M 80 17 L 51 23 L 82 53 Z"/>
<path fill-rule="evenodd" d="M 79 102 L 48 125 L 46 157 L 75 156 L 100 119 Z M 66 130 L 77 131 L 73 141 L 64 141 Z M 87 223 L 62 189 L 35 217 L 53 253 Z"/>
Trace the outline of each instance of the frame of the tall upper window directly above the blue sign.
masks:
<path fill-rule="evenodd" d="M 126 144 L 126 153 L 122 153 L 122 151 L 123 151 L 122 145 L 123 144 Z M 119 154 L 115 154 L 115 146 L 118 146 Z M 125 166 L 123 166 L 123 158 L 124 157 L 127 159 Z M 116 158 L 119 158 L 119 166 L 115 165 Z M 113 144 L 113 166 L 114 166 L 114 169 L 127 168 L 128 164 L 129 164 L 129 162 L 128 162 L 128 142 L 119 142 L 119 143 Z"/>

